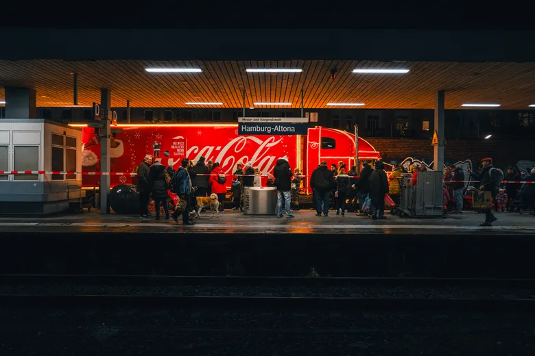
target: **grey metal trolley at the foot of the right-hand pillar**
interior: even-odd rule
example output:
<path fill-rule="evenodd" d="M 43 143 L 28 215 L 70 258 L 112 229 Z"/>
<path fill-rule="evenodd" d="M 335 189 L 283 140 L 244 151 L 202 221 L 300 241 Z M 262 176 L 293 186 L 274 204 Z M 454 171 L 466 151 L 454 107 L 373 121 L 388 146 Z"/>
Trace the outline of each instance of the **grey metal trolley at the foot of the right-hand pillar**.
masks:
<path fill-rule="evenodd" d="M 401 175 L 401 203 L 399 216 L 411 218 L 442 217 L 444 195 L 442 172 L 418 172 L 416 186 L 412 174 Z"/>

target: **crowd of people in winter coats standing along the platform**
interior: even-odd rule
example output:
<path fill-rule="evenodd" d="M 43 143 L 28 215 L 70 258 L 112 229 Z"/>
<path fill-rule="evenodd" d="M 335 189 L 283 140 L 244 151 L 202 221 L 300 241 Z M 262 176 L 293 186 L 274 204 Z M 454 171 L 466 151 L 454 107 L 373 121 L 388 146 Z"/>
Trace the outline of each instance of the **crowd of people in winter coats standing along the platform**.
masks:
<path fill-rule="evenodd" d="M 510 183 L 513 181 L 535 182 L 535 166 L 530 174 L 521 171 L 516 173 L 510 167 L 506 173 L 492 166 L 492 158 L 486 157 L 481 162 L 477 173 L 468 169 L 464 173 L 461 166 L 451 165 L 444 169 L 444 212 L 462 214 L 464 206 L 465 181 L 479 181 L 475 189 L 490 192 L 495 212 L 514 212 L 524 214 L 530 209 L 535 210 L 535 184 Z M 394 164 L 392 172 L 385 173 L 384 164 L 375 162 L 372 167 L 369 162 L 362 163 L 361 172 L 357 174 L 357 167 L 347 170 L 344 162 L 332 164 L 329 168 L 323 161 L 313 170 L 310 177 L 310 188 L 313 191 L 313 210 L 317 216 L 329 216 L 329 209 L 336 215 L 344 216 L 346 212 L 354 212 L 357 202 L 359 209 L 357 216 L 371 216 L 373 219 L 385 219 L 385 196 L 390 195 L 392 201 L 399 203 L 401 197 L 401 177 L 403 173 L 412 174 L 412 184 L 416 186 L 418 173 L 426 170 L 425 165 L 414 163 L 408 170 L 399 164 Z M 137 191 L 141 208 L 141 218 L 149 216 L 148 203 L 152 194 L 156 212 L 156 220 L 160 219 L 160 205 L 165 212 L 165 219 L 170 217 L 178 220 L 182 214 L 182 221 L 187 225 L 193 224 L 189 212 L 196 211 L 195 197 L 217 195 L 219 212 L 224 212 L 227 182 L 219 162 L 208 161 L 200 157 L 197 163 L 182 160 L 178 170 L 172 166 L 165 167 L 160 160 L 153 162 L 152 155 L 146 155 L 137 169 Z M 299 168 L 292 171 L 287 157 L 276 161 L 273 174 L 268 175 L 267 186 L 274 186 L 277 190 L 276 214 L 278 217 L 294 218 L 292 210 L 299 209 L 298 195 L 302 175 Z M 508 183 L 503 183 L 508 181 Z M 252 162 L 238 163 L 233 172 L 230 188 L 233 209 L 243 210 L 243 189 L 246 187 L 262 186 L 261 172 Z M 183 212 L 176 209 L 169 214 L 168 190 L 178 194 Z M 366 206 L 369 199 L 369 207 Z M 332 207 L 330 206 L 333 201 Z M 283 212 L 284 210 L 284 212 Z M 484 209 L 485 222 L 482 226 L 491 226 L 497 220 L 491 209 Z"/>

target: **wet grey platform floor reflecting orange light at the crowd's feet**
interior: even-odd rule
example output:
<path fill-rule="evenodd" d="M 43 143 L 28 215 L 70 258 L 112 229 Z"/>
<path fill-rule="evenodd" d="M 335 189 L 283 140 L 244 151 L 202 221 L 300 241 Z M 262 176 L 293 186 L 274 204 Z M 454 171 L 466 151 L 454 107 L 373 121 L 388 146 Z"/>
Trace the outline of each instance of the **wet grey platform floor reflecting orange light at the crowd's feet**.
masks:
<path fill-rule="evenodd" d="M 60 214 L 47 217 L 0 217 L 0 232 L 118 232 L 118 233 L 318 233 L 318 234 L 535 234 L 535 216 L 518 213 L 497 213 L 492 227 L 479 227 L 484 215 L 475 212 L 449 214 L 446 218 L 400 218 L 387 215 L 386 220 L 346 213 L 336 216 L 316 216 L 311 210 L 293 212 L 293 219 L 276 216 L 251 216 L 226 209 L 219 218 L 209 212 L 194 220 L 195 225 L 183 226 L 179 220 L 155 220 L 154 216 L 99 214 L 93 210 L 83 214 Z"/>

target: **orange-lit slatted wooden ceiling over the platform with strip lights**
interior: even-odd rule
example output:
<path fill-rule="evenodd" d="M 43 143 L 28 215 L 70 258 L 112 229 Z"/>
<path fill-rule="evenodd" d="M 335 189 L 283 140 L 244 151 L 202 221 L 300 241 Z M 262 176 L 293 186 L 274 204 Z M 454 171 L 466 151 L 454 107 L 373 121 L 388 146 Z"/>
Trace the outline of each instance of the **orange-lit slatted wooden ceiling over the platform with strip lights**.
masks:
<path fill-rule="evenodd" d="M 147 73 L 148 67 L 201 68 L 202 73 Z M 246 73 L 246 68 L 302 68 L 301 73 Z M 331 69 L 337 68 L 334 80 Z M 408 74 L 357 74 L 354 68 L 407 68 Z M 255 102 L 289 102 L 307 108 L 326 103 L 365 103 L 362 108 L 430 109 L 437 90 L 448 90 L 446 108 L 462 103 L 499 103 L 523 110 L 535 103 L 535 63 L 357 62 L 357 61 L 0 61 L 0 101 L 5 86 L 37 91 L 39 107 L 73 102 L 71 72 L 78 73 L 80 106 L 99 102 L 99 88 L 112 90 L 112 106 L 195 107 L 186 102 L 222 102 L 214 107 L 246 107 Z M 263 106 L 269 107 L 269 106 Z M 275 107 L 275 106 L 272 106 Z"/>

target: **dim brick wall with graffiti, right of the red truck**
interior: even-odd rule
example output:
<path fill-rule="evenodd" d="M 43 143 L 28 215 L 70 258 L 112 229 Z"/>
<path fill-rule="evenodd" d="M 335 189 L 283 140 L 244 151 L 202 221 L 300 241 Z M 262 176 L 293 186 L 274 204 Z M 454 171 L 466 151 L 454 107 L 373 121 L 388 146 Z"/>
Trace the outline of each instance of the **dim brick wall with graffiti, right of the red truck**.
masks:
<path fill-rule="evenodd" d="M 433 147 L 431 140 L 407 140 L 395 138 L 366 138 L 383 156 L 385 162 L 401 161 L 406 157 L 431 162 Z M 535 161 L 534 141 L 475 141 L 446 140 L 444 161 L 452 164 L 461 160 L 479 162 L 484 157 L 492 157 L 495 166 L 505 168 L 519 160 Z"/>

